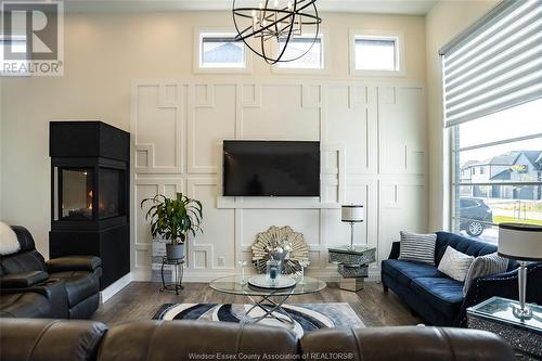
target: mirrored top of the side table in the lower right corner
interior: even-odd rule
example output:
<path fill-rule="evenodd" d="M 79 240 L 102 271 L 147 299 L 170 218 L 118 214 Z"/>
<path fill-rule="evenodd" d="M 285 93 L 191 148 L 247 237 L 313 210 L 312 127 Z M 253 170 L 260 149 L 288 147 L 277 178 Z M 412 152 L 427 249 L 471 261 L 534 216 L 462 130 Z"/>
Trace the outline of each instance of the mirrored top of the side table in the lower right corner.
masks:
<path fill-rule="evenodd" d="M 532 318 L 519 320 L 512 313 L 514 305 L 519 306 L 519 302 L 502 297 L 492 297 L 479 305 L 468 308 L 467 312 L 495 322 L 508 323 L 542 333 L 542 306 L 529 304 L 532 310 Z"/>

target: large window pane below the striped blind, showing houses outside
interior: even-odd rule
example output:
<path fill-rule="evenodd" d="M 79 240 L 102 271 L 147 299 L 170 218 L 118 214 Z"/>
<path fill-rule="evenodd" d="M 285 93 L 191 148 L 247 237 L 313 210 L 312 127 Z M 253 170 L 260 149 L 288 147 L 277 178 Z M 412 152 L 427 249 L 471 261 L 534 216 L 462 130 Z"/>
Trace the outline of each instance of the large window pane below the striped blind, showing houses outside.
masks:
<path fill-rule="evenodd" d="M 542 99 L 453 128 L 456 232 L 496 242 L 501 222 L 542 225 Z"/>

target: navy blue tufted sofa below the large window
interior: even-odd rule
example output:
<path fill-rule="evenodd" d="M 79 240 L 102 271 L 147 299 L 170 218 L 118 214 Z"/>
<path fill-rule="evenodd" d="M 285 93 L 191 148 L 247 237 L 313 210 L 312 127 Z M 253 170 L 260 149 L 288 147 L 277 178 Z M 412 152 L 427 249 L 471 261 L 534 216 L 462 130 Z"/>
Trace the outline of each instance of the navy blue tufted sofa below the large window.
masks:
<path fill-rule="evenodd" d="M 470 255 L 496 252 L 496 245 L 449 232 L 437 232 L 435 265 L 399 260 L 400 243 L 393 242 L 389 259 L 382 262 L 384 291 L 391 288 L 424 322 L 439 326 L 466 326 L 466 309 L 493 296 L 518 299 L 517 262 L 505 273 L 476 279 L 466 296 L 463 283 L 450 279 L 437 267 L 448 246 Z M 542 263 L 527 270 L 527 301 L 542 305 Z"/>

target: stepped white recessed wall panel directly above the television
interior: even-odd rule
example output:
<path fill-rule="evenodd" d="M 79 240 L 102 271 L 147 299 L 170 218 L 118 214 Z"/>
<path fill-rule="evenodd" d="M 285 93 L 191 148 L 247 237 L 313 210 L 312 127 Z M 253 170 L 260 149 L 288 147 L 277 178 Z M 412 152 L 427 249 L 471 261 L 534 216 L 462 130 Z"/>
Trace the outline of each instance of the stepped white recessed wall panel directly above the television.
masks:
<path fill-rule="evenodd" d="M 304 87 L 261 86 L 260 106 L 243 107 L 242 138 L 269 140 L 319 140 L 320 111 L 304 107 Z M 313 98 L 307 100 L 313 105 Z"/>

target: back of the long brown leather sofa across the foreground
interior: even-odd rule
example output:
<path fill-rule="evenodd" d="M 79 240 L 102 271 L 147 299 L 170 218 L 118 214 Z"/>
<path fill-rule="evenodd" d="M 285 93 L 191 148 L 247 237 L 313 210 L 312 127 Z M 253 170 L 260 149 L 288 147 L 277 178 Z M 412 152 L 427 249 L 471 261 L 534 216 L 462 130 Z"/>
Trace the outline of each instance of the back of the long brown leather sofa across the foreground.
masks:
<path fill-rule="evenodd" d="M 282 327 L 204 321 L 0 320 L 5 361 L 363 360 L 513 361 L 499 336 L 474 330 L 322 330 L 301 339 Z"/>

